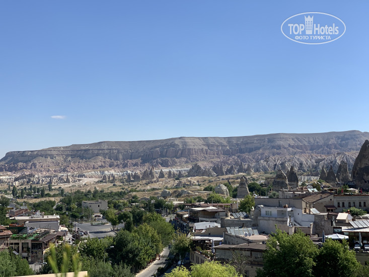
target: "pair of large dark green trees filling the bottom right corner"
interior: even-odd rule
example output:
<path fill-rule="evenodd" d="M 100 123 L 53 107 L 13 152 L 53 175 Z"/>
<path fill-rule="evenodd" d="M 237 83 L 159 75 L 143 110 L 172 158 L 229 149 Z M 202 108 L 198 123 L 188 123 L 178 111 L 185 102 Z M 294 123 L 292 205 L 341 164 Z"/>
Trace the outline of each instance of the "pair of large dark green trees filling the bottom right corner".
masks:
<path fill-rule="evenodd" d="M 369 268 L 360 265 L 345 241 L 328 239 L 318 248 L 302 232 L 288 235 L 277 230 L 267 241 L 263 262 L 258 277 L 369 276 Z"/>

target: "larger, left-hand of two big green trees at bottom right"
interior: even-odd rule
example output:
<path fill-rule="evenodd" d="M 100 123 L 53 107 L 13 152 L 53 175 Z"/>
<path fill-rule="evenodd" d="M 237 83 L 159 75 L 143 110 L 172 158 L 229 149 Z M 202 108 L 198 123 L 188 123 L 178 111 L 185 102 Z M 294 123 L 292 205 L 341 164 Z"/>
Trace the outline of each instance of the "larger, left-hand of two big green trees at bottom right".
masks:
<path fill-rule="evenodd" d="M 257 276 L 312 277 L 317 254 L 317 246 L 304 233 L 288 235 L 277 229 L 267 241 L 264 267 Z"/>

